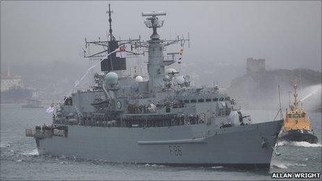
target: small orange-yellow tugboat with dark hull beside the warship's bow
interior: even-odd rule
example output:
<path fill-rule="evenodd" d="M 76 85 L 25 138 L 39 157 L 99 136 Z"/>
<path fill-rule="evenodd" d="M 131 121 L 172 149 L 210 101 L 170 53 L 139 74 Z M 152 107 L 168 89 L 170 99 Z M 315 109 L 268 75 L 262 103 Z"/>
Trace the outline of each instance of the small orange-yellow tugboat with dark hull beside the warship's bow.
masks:
<path fill-rule="evenodd" d="M 298 109 L 298 94 L 296 92 L 298 85 L 294 81 L 294 105 L 290 105 L 287 111 L 284 128 L 279 137 L 279 141 L 305 141 L 310 144 L 316 144 L 318 138 L 312 132 L 312 123 L 307 112 L 301 107 Z"/>

